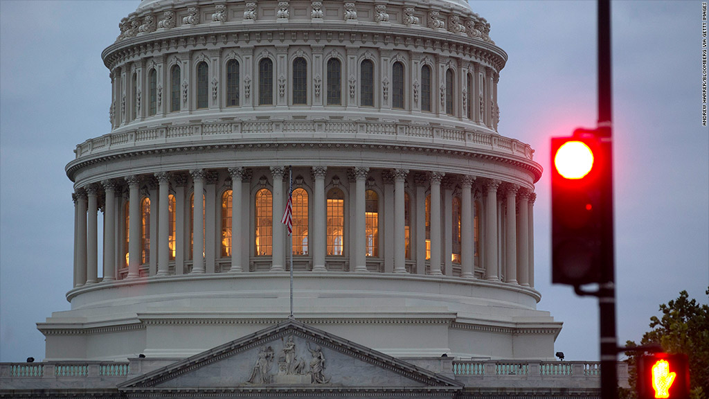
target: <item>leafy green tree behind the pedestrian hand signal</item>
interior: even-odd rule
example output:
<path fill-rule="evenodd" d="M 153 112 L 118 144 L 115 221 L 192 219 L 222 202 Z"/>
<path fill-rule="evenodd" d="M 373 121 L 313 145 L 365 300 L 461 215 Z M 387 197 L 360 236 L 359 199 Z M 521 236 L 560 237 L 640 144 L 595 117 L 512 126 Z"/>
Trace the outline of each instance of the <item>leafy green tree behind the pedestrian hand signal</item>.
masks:
<path fill-rule="evenodd" d="M 709 295 L 709 288 L 706 290 Z M 689 299 L 686 291 L 679 293 L 659 307 L 661 317 L 650 317 L 651 331 L 643 334 L 641 345 L 659 344 L 662 350 L 671 354 L 686 354 L 689 358 L 691 378 L 691 398 L 709 398 L 709 305 L 700 305 Z M 627 341 L 626 347 L 637 346 L 635 341 Z M 635 386 L 635 361 L 640 353 L 627 351 L 629 383 Z M 635 398 L 635 391 L 620 390 L 619 398 Z"/>

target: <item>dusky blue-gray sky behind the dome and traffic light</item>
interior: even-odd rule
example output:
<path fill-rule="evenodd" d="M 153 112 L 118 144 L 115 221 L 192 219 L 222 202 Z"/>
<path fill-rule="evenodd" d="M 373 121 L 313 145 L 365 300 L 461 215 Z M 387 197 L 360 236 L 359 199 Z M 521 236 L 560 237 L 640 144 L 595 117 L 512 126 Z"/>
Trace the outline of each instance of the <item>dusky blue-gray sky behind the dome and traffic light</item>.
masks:
<path fill-rule="evenodd" d="M 133 1 L 0 1 L 0 361 L 43 359 L 35 322 L 69 309 L 74 209 L 64 167 L 109 132 L 101 50 Z M 596 124 L 595 1 L 471 1 L 509 55 L 499 131 L 535 148 Z M 658 305 L 708 302 L 709 130 L 701 125 L 701 1 L 613 3 L 618 337 Z M 550 285 L 549 175 L 537 183 L 537 307 L 567 360 L 598 360 L 598 303 Z"/>

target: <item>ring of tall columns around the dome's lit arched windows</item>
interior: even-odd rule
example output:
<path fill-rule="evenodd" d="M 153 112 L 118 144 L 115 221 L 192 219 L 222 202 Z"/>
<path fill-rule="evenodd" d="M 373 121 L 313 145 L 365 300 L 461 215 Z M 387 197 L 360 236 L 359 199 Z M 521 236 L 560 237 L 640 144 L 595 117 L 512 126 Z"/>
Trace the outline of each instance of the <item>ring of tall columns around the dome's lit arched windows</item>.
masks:
<path fill-rule="evenodd" d="M 345 201 L 351 204 L 347 204 L 349 212 L 343 211 L 345 231 L 349 233 L 344 236 L 347 250 L 339 257 L 347 259 L 348 270 L 365 273 L 371 271 L 370 263 L 379 262 L 383 268 L 378 271 L 386 273 L 446 275 L 525 287 L 534 285 L 532 207 L 535 194 L 526 188 L 501 180 L 437 171 L 410 173 L 406 169 L 375 171 L 324 166 L 298 170 L 309 172 L 306 185 L 313 198 L 306 204 L 310 209 L 306 217 L 308 249 L 300 258 L 311 262 L 309 270 L 313 272 L 331 270 L 330 263 L 338 258 L 326 255 L 326 231 L 330 223 L 326 192 L 335 185 L 348 192 Z M 128 175 L 77 188 L 73 195 L 74 287 L 152 275 L 244 273 L 255 270 L 252 267 L 255 259 L 261 263 L 270 260 L 269 270 L 286 270 L 288 241 L 281 215 L 288 195 L 287 168 L 274 166 L 258 171 L 263 175 L 254 182 L 252 169 L 234 167 Z M 347 174 L 349 185 L 340 183 L 333 173 Z M 253 193 L 259 186 L 266 187 L 269 177 L 272 181 L 269 186 L 272 187 L 272 248 L 269 256 L 259 256 L 254 245 Z M 193 201 L 191 213 L 187 212 L 191 206 L 189 180 L 193 192 L 204 195 L 204 202 Z M 222 226 L 218 183 L 231 190 L 233 199 L 230 256 L 218 250 Z M 382 197 L 382 201 L 377 202 L 379 208 L 375 215 L 379 218 L 376 229 L 383 233 L 376 236 L 382 250 L 368 256 L 367 245 L 372 243 L 367 242 L 371 239 L 366 231 L 372 226 L 365 217 L 365 192 L 373 187 L 379 187 Z M 149 221 L 141 214 L 142 198 L 150 199 Z M 455 204 L 459 204 L 458 211 Z M 98 275 L 100 209 L 104 211 L 102 280 Z M 172 222 L 170 212 L 176 215 Z M 200 214 L 208 216 L 202 218 Z M 196 216 L 190 219 L 189 215 Z M 141 242 L 142 236 L 152 237 L 149 244 Z M 127 261 L 123 259 L 125 247 Z M 141 251 L 149 252 L 149 256 L 141 256 Z M 190 254 L 191 269 L 185 267 Z M 228 267 L 216 267 L 227 258 L 230 258 Z"/>

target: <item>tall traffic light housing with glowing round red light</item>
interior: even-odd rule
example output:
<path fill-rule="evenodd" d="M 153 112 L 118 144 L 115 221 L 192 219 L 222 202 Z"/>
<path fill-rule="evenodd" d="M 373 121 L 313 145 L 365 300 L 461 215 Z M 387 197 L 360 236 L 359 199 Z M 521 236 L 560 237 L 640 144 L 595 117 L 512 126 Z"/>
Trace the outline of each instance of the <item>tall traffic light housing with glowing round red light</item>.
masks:
<path fill-rule="evenodd" d="M 552 283 L 601 283 L 613 261 L 610 141 L 595 130 L 552 138 Z"/>

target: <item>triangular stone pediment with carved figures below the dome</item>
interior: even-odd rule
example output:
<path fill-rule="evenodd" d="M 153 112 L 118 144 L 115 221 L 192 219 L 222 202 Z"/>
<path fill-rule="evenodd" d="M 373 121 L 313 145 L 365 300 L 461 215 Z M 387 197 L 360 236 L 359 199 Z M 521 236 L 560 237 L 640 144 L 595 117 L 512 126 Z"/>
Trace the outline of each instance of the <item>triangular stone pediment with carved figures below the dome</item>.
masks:
<path fill-rule="evenodd" d="M 288 319 L 122 383 L 123 393 L 454 395 L 462 384 Z"/>

